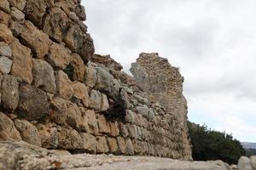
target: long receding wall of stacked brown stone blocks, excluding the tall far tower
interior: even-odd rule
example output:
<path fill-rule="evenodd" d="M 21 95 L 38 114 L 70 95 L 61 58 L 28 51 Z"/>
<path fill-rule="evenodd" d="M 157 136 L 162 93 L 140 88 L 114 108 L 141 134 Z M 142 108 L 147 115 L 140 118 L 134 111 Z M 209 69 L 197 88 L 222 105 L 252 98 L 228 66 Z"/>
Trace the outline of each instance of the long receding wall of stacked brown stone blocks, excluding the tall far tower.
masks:
<path fill-rule="evenodd" d="M 190 160 L 178 117 L 94 54 L 80 3 L 1 0 L 0 140 Z"/>

